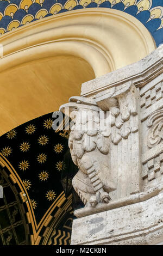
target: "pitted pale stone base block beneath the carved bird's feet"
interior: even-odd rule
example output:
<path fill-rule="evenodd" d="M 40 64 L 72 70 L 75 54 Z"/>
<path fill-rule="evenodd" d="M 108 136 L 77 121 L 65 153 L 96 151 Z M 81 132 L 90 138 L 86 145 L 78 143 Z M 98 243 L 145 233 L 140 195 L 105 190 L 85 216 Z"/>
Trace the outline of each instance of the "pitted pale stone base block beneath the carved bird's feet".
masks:
<path fill-rule="evenodd" d="M 71 245 L 156 245 L 163 240 L 163 193 L 73 221 Z"/>

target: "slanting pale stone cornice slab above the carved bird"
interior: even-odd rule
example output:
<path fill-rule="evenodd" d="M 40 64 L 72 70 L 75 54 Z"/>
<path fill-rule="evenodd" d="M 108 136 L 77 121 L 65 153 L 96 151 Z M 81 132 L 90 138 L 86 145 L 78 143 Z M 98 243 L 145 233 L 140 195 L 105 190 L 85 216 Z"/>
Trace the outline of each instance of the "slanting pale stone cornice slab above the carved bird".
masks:
<path fill-rule="evenodd" d="M 82 84 L 81 96 L 95 96 L 108 88 L 133 81 L 136 87 L 142 87 L 163 72 L 163 45 L 139 62 L 125 66 L 101 77 Z"/>

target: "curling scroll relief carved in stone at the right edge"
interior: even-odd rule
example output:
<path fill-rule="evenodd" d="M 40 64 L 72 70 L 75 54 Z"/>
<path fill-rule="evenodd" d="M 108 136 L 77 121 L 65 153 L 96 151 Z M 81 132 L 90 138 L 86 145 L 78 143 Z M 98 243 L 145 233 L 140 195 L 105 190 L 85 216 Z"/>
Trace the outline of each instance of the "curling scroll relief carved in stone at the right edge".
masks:
<path fill-rule="evenodd" d="M 149 115 L 147 126 L 151 127 L 147 135 L 147 145 L 149 148 L 153 148 L 163 139 L 163 109 Z"/>

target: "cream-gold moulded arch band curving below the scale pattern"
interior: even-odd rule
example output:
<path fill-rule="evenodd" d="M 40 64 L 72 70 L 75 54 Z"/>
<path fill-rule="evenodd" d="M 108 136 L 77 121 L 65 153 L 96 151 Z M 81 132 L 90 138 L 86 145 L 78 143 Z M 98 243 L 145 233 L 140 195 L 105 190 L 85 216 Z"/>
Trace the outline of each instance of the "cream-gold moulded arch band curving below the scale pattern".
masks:
<path fill-rule="evenodd" d="M 0 39 L 1 72 L 63 54 L 85 59 L 96 77 L 137 62 L 155 50 L 147 28 L 119 10 L 89 8 L 35 21 Z"/>

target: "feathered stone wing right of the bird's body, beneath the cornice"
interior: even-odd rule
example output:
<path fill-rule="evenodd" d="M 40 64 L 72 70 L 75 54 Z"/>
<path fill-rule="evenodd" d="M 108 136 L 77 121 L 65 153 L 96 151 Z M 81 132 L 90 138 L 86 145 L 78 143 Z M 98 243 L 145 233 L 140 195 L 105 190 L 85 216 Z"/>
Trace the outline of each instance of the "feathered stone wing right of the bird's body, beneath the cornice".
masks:
<path fill-rule="evenodd" d="M 111 142 L 118 144 L 122 138 L 128 138 L 131 132 L 137 132 L 137 89 L 130 82 L 121 89 L 111 88 L 111 92 L 96 96 L 97 105 L 110 112 Z"/>

